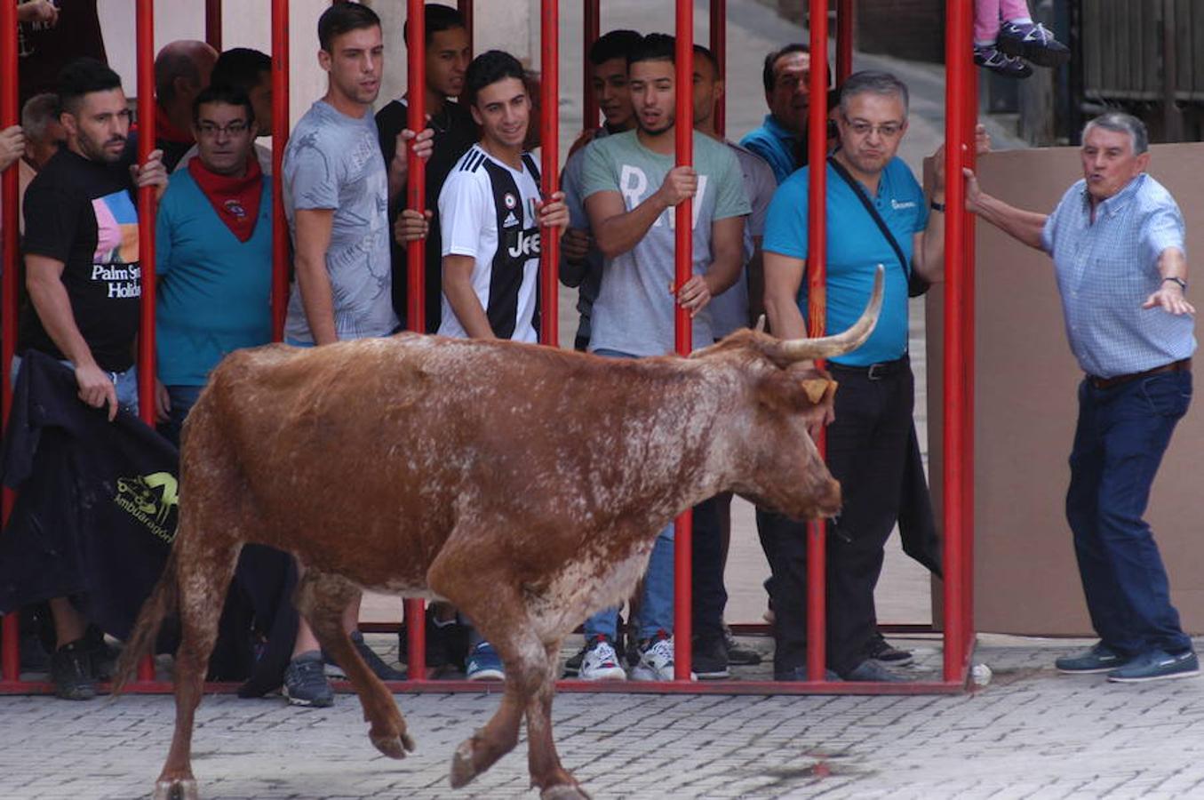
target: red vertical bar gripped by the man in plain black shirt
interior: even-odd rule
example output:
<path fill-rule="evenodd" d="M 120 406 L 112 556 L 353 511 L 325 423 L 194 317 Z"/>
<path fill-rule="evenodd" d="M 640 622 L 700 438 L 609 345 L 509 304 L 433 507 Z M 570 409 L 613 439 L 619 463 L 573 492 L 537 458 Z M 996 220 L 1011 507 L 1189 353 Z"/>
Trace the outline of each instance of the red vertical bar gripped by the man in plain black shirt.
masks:
<path fill-rule="evenodd" d="M 407 120 L 411 130 L 426 128 L 426 6 L 424 0 L 407 0 L 406 19 L 409 23 L 409 41 L 406 42 Z M 465 28 L 472 40 L 472 1 L 460 0 L 460 12 L 465 14 Z M 426 208 L 426 163 L 406 153 L 406 199 L 408 208 Z M 409 330 L 426 333 L 426 242 L 415 240 L 406 245 L 407 307 L 406 322 Z M 411 681 L 426 678 L 426 611 L 419 599 L 406 600 L 407 667 Z"/>

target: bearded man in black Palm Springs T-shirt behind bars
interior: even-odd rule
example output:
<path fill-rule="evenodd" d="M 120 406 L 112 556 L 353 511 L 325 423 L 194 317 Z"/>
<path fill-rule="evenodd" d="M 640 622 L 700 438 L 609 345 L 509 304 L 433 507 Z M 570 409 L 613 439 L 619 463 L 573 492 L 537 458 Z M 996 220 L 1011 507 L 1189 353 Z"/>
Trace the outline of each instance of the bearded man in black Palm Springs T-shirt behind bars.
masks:
<path fill-rule="evenodd" d="M 41 351 L 75 370 L 79 399 L 137 408 L 134 345 L 142 295 L 135 188 L 167 184 L 163 153 L 141 167 L 124 163 L 130 112 L 120 77 L 90 58 L 59 75 L 59 117 L 67 145 L 25 193 L 25 271 L 30 306 L 18 351 Z M 52 676 L 59 696 L 95 694 L 85 622 L 66 598 L 51 600 L 58 648 Z"/>

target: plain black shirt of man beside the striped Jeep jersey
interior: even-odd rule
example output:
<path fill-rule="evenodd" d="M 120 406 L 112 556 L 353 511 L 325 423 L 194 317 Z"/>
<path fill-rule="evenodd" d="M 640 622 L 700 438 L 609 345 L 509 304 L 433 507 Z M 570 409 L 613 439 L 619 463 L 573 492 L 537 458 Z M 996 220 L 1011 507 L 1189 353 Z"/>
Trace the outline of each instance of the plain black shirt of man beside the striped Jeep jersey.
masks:
<path fill-rule="evenodd" d="M 377 131 L 380 136 L 380 152 L 385 165 L 393 163 L 397 152 L 397 134 L 406 129 L 409 106 L 405 100 L 394 100 L 377 112 Z M 431 231 L 426 237 L 426 331 L 433 334 L 439 329 L 443 298 L 443 251 L 439 246 L 442 229 L 439 227 L 439 192 L 448 180 L 452 167 L 468 148 L 477 143 L 480 135 L 472 112 L 459 102 L 448 100 L 443 110 L 435 114 L 429 127 L 435 131 L 431 158 L 426 163 L 426 207 L 431 211 Z M 405 190 L 402 196 L 389 208 L 391 225 L 406 207 Z M 406 248 L 397 243 L 390 230 L 390 254 L 393 258 L 393 308 L 397 319 L 406 319 L 407 298 L 409 296 Z"/>

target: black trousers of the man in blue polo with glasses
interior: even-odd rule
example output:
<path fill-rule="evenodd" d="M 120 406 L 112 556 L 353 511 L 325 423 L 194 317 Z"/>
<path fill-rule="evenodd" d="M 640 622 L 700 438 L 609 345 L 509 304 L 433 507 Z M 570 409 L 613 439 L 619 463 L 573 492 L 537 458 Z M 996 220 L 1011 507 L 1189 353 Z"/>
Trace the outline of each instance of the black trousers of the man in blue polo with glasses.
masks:
<path fill-rule="evenodd" d="M 827 465 L 843 507 L 827 527 L 827 667 L 845 675 L 864 660 L 877 629 L 874 588 L 899 516 L 910 454 L 914 378 L 907 358 L 866 369 L 830 364 L 839 382 L 827 429 Z M 774 673 L 807 663 L 807 525 L 757 510 L 772 577 Z"/>

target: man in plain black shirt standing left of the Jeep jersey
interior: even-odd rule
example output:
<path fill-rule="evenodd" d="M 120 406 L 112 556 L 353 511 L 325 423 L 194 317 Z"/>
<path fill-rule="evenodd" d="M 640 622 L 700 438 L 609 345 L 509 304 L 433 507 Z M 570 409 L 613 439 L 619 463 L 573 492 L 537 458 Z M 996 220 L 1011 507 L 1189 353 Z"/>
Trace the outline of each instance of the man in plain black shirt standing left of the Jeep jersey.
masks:
<path fill-rule="evenodd" d="M 408 23 L 407 23 L 408 25 Z M 408 30 L 407 30 L 408 34 Z M 408 41 L 408 39 L 407 39 Z M 452 100 L 464 90 L 464 75 L 471 60 L 468 33 L 464 17 L 449 6 L 426 6 L 426 113 L 435 133 L 433 151 L 426 163 L 426 204 L 430 208 L 430 233 L 426 236 L 426 333 L 439 328 L 441 286 L 443 282 L 442 236 L 437 200 L 443 182 L 460 157 L 468 152 L 478 139 L 477 124 L 462 105 Z M 394 157 L 405 158 L 406 149 L 397 147 L 397 136 L 408 127 L 409 112 L 406 98 L 394 100 L 376 117 L 380 135 L 380 152 L 385 164 Z M 389 220 L 397 219 L 405 206 L 405 187 L 389 187 L 389 196 L 397 198 L 389 210 Z M 394 237 L 393 257 L 393 307 L 397 318 L 406 320 L 406 236 L 399 230 Z"/>

